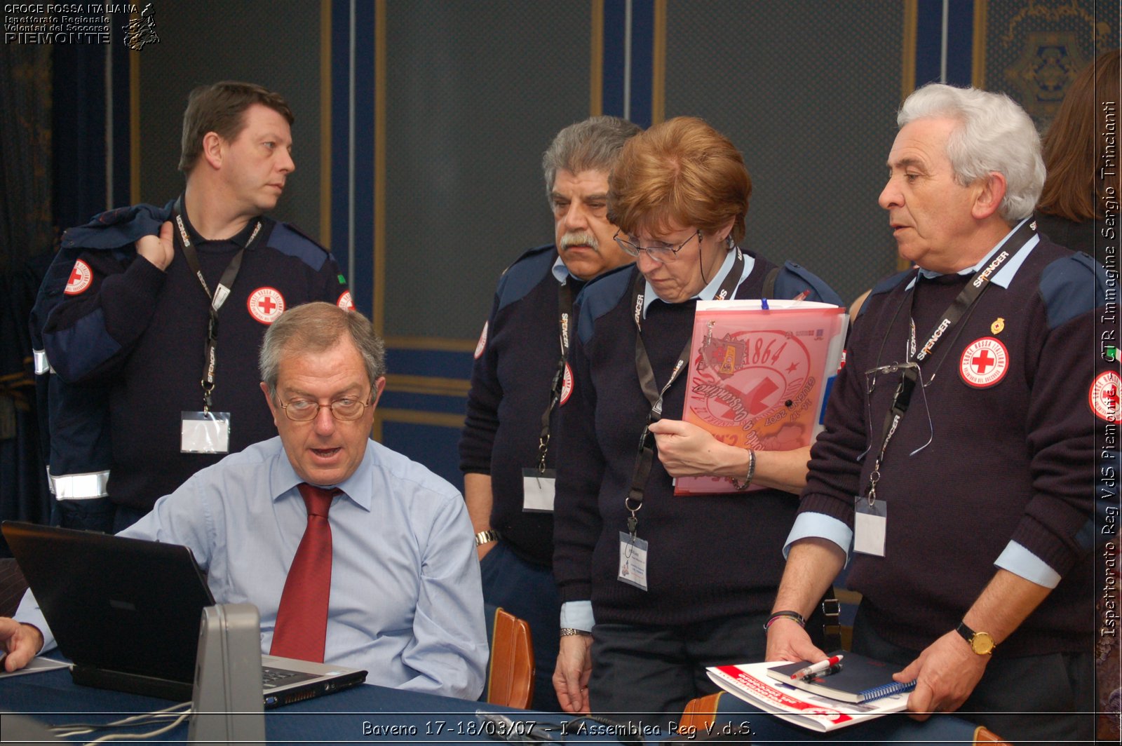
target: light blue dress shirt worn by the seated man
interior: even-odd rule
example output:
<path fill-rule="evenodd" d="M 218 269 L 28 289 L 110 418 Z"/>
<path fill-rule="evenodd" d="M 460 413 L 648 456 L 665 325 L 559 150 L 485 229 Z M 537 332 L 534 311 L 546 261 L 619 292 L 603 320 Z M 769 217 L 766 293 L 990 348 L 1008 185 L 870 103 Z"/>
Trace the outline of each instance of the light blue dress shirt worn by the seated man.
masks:
<path fill-rule="evenodd" d="M 191 547 L 220 604 L 249 602 L 261 651 L 304 535 L 301 482 L 279 438 L 203 469 L 121 536 Z M 487 666 L 479 561 L 454 487 L 374 441 L 331 504 L 331 600 L 324 662 L 383 687 L 476 699 Z M 30 591 L 15 618 L 54 645 Z"/>

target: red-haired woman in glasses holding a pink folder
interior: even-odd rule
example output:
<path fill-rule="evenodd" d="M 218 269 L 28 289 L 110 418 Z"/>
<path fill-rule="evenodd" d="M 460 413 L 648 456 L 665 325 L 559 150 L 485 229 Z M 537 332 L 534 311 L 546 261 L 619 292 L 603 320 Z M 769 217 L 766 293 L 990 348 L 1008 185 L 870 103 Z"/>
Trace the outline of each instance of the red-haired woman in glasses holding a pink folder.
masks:
<path fill-rule="evenodd" d="M 553 683 L 569 712 L 665 727 L 717 691 L 707 665 L 763 660 L 809 450 L 753 453 L 682 422 L 682 348 L 699 298 L 842 301 L 803 267 L 739 248 L 751 191 L 741 153 L 696 118 L 636 135 L 611 172 L 608 217 L 637 258 L 574 310 L 553 532 Z M 705 475 L 767 489 L 673 495 L 674 477 Z M 644 558 L 645 584 L 632 572 Z"/>

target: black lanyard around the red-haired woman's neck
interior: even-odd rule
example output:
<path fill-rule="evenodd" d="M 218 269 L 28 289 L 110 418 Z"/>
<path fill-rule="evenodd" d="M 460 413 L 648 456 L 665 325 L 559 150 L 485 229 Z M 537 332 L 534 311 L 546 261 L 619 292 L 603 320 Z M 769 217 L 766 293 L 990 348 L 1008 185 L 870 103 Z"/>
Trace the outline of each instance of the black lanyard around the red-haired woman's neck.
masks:
<path fill-rule="evenodd" d="M 725 279 L 720 283 L 720 287 L 715 296 L 717 301 L 730 298 L 733 293 L 736 292 L 736 287 L 741 284 L 741 275 L 744 273 L 744 255 L 741 252 L 739 247 L 735 251 L 736 259 L 733 261 L 733 268 L 728 270 Z M 678 356 L 678 362 L 674 363 L 674 369 L 670 372 L 670 379 L 666 380 L 662 390 L 659 390 L 654 381 L 654 370 L 651 368 L 651 358 L 646 353 L 646 346 L 643 344 L 643 292 L 645 284 L 646 279 L 643 277 L 643 274 L 636 271 L 635 283 L 632 286 L 632 307 L 635 308 L 635 372 L 638 374 L 638 385 L 643 389 L 643 396 L 651 404 L 651 414 L 647 416 L 643 432 L 638 436 L 638 454 L 635 458 L 632 486 L 627 492 L 627 497 L 624 499 L 624 507 L 631 513 L 631 517 L 627 518 L 627 533 L 632 536 L 635 535 L 635 528 L 638 525 L 638 518 L 636 518 L 635 514 L 643 507 L 643 492 L 646 490 L 647 477 L 651 476 L 651 467 L 654 466 L 655 445 L 654 435 L 651 434 L 651 423 L 662 418 L 663 397 L 670 390 L 671 385 L 678 379 L 679 374 L 689 363 L 690 348 L 693 344 L 693 335 L 691 333 L 686 338 L 686 347 L 682 348 L 681 354 Z"/>

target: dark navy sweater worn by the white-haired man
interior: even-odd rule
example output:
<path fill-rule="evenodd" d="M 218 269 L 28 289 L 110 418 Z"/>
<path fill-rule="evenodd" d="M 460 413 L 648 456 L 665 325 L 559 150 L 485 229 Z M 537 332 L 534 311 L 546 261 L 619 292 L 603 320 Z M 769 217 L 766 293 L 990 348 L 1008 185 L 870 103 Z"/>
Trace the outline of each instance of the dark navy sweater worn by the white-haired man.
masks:
<path fill-rule="evenodd" d="M 917 389 L 876 489 L 889 508 L 885 555 L 854 554 L 848 577 L 889 641 L 919 651 L 953 629 L 1017 542 L 1063 580 L 995 654 L 1091 650 L 1094 431 L 1106 423 L 1088 395 L 1110 366 L 1096 354 L 1101 273 L 1086 255 L 1042 238 L 1009 287 L 992 284 L 921 363 L 925 380 L 935 375 L 926 406 Z M 853 524 L 853 496 L 866 494 L 874 461 L 857 455 L 870 432 L 879 448 L 898 380 L 882 378 L 870 399 L 864 372 L 903 360 L 912 295 L 923 344 L 968 279 L 921 279 L 909 291 L 914 275 L 874 288 L 854 324 L 811 451 L 802 512 Z M 991 339 L 1004 348 L 1003 363 Z"/>

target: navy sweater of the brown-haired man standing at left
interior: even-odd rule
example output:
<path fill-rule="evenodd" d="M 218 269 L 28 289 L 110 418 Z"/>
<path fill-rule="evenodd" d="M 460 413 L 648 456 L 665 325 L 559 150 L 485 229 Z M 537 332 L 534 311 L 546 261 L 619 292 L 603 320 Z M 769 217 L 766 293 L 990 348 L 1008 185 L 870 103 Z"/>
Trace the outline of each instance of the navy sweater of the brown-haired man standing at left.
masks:
<path fill-rule="evenodd" d="M 90 249 L 79 258 L 90 269 L 89 285 L 71 291 L 50 312 L 43 334 L 47 358 L 64 380 L 109 387 L 109 496 L 141 510 L 222 458 L 180 452 L 180 413 L 203 405 L 200 381 L 210 298 L 181 249 L 160 271 L 132 245 L 139 236 L 158 231 L 168 208 L 104 213 L 67 231 L 65 241 Z M 231 453 L 276 435 L 258 388 L 257 352 L 268 326 L 251 313 L 250 300 L 268 306 L 277 296 L 254 293 L 272 288 L 288 308 L 310 301 L 350 303 L 349 295 L 342 297 L 347 285 L 327 249 L 284 223 L 261 220 L 218 313 L 212 408 L 231 413 Z M 255 223 L 224 241 L 203 241 L 187 223 L 211 291 Z M 258 314 L 264 310 L 258 306 Z"/>

